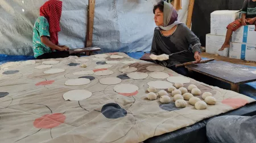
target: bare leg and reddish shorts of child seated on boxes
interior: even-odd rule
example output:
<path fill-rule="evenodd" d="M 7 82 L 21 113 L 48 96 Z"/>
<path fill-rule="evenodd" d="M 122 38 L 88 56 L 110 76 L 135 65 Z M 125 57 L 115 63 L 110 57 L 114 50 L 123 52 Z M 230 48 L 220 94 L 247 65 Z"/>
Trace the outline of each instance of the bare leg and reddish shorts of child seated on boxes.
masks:
<path fill-rule="evenodd" d="M 221 46 L 221 49 L 219 49 L 219 51 L 224 50 L 226 47 L 229 48 L 230 46 L 230 39 L 231 36 L 233 34 L 233 31 L 236 31 L 238 28 L 240 28 L 242 26 L 242 20 L 241 19 L 237 19 L 236 21 L 233 21 L 233 23 L 230 23 L 228 25 L 227 31 L 226 31 L 226 38 L 225 38 L 225 42 L 224 44 Z"/>

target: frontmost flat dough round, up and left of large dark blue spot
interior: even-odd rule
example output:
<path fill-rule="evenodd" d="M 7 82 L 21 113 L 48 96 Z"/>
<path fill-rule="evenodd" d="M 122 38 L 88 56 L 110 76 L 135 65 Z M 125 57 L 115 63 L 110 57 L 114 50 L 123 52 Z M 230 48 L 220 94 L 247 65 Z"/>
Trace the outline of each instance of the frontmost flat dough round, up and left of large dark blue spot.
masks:
<path fill-rule="evenodd" d="M 71 90 L 63 94 L 65 101 L 80 101 L 82 99 L 87 99 L 92 96 L 92 93 L 87 90 Z"/>

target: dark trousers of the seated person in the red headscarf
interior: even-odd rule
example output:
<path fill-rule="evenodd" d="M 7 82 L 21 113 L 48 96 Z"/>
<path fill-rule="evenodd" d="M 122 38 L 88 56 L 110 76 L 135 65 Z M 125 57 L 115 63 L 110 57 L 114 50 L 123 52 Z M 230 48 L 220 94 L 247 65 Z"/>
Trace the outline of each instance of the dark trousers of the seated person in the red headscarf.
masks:
<path fill-rule="evenodd" d="M 69 51 L 53 51 L 52 53 L 44 53 L 36 59 L 56 59 L 69 57 Z"/>

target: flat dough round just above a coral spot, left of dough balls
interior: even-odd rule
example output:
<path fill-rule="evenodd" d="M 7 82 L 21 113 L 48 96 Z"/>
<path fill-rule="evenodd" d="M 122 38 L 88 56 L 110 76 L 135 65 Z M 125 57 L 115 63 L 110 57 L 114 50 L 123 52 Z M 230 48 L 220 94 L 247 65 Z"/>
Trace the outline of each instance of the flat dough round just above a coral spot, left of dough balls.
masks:
<path fill-rule="evenodd" d="M 118 84 L 114 86 L 114 91 L 117 93 L 133 93 L 139 90 L 138 86 L 133 84 Z"/>

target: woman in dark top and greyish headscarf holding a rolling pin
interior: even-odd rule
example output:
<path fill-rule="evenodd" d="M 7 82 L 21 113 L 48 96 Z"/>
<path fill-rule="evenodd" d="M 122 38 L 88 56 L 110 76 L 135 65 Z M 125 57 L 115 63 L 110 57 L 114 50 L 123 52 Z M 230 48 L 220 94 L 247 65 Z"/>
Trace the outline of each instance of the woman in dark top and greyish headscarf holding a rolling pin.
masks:
<path fill-rule="evenodd" d="M 156 63 L 188 76 L 184 67 L 175 64 L 200 62 L 201 44 L 199 38 L 184 24 L 177 21 L 177 11 L 170 3 L 161 1 L 154 6 L 155 28 L 150 58 Z"/>

